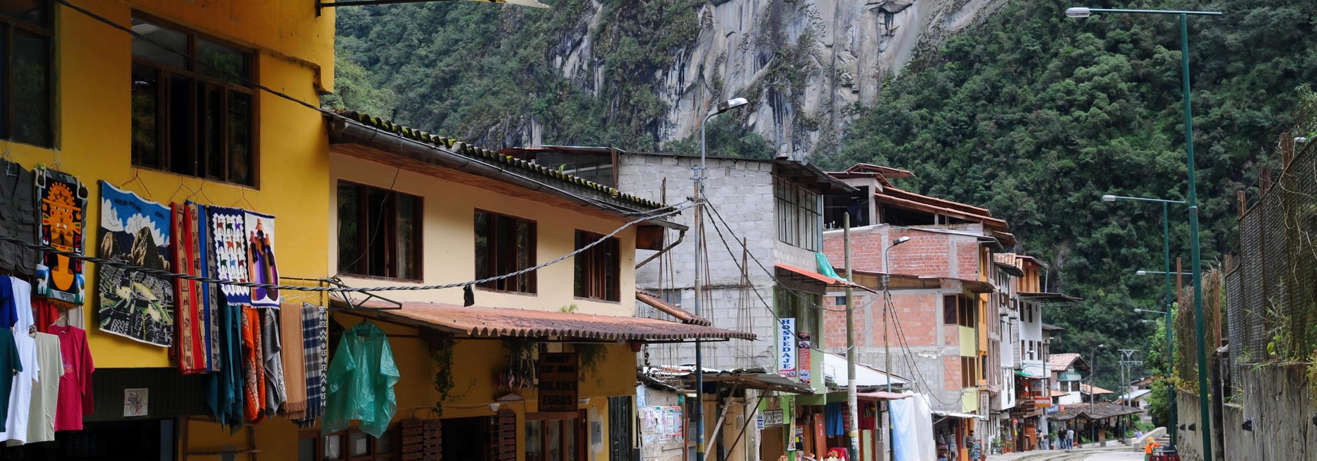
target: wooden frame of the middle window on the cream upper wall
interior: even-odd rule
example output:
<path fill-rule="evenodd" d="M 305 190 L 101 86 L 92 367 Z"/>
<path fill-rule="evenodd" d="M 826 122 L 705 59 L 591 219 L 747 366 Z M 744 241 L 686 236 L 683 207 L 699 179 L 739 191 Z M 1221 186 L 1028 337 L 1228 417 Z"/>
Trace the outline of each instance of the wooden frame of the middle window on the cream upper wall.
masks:
<path fill-rule="evenodd" d="M 522 270 L 522 269 L 525 269 L 525 267 L 533 267 L 537 263 L 536 261 L 539 261 L 539 259 L 536 258 L 536 256 L 539 254 L 539 240 L 540 240 L 539 223 L 536 223 L 535 220 L 520 217 L 520 216 L 512 216 L 512 215 L 506 215 L 506 213 L 499 213 L 499 212 L 494 212 L 494 211 L 487 211 L 487 209 L 479 209 L 479 208 L 477 208 L 475 213 L 473 215 L 473 219 L 471 219 L 473 227 L 478 225 L 478 220 L 474 216 L 478 216 L 478 215 L 482 215 L 482 213 L 487 215 L 487 217 L 485 219 L 485 228 L 486 228 L 486 242 L 485 242 L 486 257 L 485 257 L 485 266 L 486 267 L 485 267 L 485 271 L 482 273 L 481 267 L 479 267 L 479 259 L 478 259 L 479 254 L 477 254 L 477 259 L 473 261 L 473 265 L 475 266 L 475 278 L 477 279 L 486 278 L 486 277 L 493 277 L 493 275 L 503 275 L 506 273 Z M 516 252 L 515 250 L 515 248 L 516 248 L 516 242 L 515 241 L 516 241 L 516 237 L 518 237 L 516 236 L 516 225 L 524 223 L 528 227 L 531 236 L 527 240 L 527 248 L 525 248 L 525 253 L 527 253 L 525 254 L 525 262 L 527 263 L 525 263 L 525 267 L 510 269 L 508 266 L 504 266 L 504 267 L 500 269 L 500 265 L 507 263 L 507 262 L 503 261 L 504 259 L 503 256 L 498 254 L 499 250 L 500 250 L 500 248 L 495 246 L 495 244 L 500 242 L 500 241 L 506 244 L 507 241 L 504 241 L 502 238 L 489 238 L 489 232 L 490 230 L 495 230 L 497 233 L 499 233 L 499 236 L 502 236 L 503 232 L 506 232 L 506 229 L 498 229 L 499 228 L 498 223 L 503 223 L 502 220 L 511 220 L 510 223 L 514 227 L 512 232 L 510 233 L 511 238 L 512 238 L 514 252 Z M 474 229 L 474 234 L 473 236 L 474 236 L 474 238 L 477 241 L 481 238 L 479 230 L 481 229 Z M 477 252 L 479 252 L 479 249 L 477 249 Z M 518 254 L 514 253 L 514 254 L 511 254 L 511 257 L 512 257 L 514 261 L 510 263 L 510 266 L 519 266 L 516 263 Z M 539 292 L 539 278 L 536 277 L 537 273 L 539 271 L 532 270 L 532 271 L 522 274 L 522 275 L 516 275 L 516 277 L 510 277 L 510 278 L 504 278 L 504 279 L 499 279 L 499 281 L 491 281 L 491 282 L 481 283 L 481 285 L 477 285 L 475 287 L 481 288 L 481 290 L 489 290 L 489 291 L 502 291 L 502 292 L 516 292 L 516 294 L 533 295 L 533 294 Z M 519 290 L 516 286 L 520 285 L 520 283 L 523 283 L 523 282 L 525 283 L 525 288 L 524 290 Z"/>

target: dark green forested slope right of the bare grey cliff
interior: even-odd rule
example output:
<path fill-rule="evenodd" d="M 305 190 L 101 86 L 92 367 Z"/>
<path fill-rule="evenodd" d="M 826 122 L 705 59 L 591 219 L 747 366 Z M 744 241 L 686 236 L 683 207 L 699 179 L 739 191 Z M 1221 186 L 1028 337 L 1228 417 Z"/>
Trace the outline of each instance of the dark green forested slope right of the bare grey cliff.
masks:
<path fill-rule="evenodd" d="M 1052 308 L 1067 328 L 1052 352 L 1106 344 L 1155 352 L 1134 307 L 1162 310 L 1160 205 L 1101 202 L 1104 194 L 1187 196 L 1180 34 L 1175 16 L 1067 18 L 1067 0 L 1013 0 L 988 24 L 925 54 L 860 108 L 840 166 L 865 161 L 913 170 L 902 182 L 985 205 L 1021 237 L 1018 250 L 1052 265 L 1052 288 L 1084 298 Z M 1301 83 L 1317 79 L 1309 0 L 1090 1 L 1093 8 L 1212 9 L 1189 17 L 1195 153 L 1202 259 L 1237 240 L 1234 192 L 1255 194 L 1259 166 L 1295 124 Z M 1189 270 L 1188 213 L 1171 208 L 1172 258 Z M 1172 269 L 1173 270 L 1173 269 Z M 1192 332 L 1183 332 L 1189 333 Z M 1158 364 L 1160 364 L 1160 357 Z M 1115 383 L 1115 353 L 1100 352 L 1098 383 Z"/>

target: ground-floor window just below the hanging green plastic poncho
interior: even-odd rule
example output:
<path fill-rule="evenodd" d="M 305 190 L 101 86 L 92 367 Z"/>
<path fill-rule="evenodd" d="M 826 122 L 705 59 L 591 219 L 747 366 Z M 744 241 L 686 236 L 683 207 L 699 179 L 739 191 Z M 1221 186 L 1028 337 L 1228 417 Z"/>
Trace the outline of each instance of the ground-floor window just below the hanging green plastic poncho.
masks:
<path fill-rule="evenodd" d="M 303 431 L 298 435 L 298 461 L 399 461 L 402 440 L 398 425 L 390 425 L 379 439 L 357 428 L 320 433 Z"/>

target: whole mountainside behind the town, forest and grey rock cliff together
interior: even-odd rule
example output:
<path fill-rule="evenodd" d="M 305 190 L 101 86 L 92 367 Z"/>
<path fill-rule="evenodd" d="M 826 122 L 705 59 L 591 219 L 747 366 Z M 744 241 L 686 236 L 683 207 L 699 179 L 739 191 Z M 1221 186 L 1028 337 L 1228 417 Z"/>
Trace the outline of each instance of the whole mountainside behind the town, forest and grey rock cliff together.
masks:
<path fill-rule="evenodd" d="M 1085 299 L 1047 313 L 1067 327 L 1052 352 L 1160 349 L 1131 312 L 1160 303 L 1162 279 L 1134 275 L 1162 267 L 1160 208 L 1098 198 L 1185 198 L 1176 17 L 1067 18 L 1068 0 L 547 3 L 341 8 L 337 90 L 489 148 L 677 151 L 705 104 L 747 96 L 751 111 L 711 125 L 711 153 L 913 170 L 900 187 L 992 209 L 1017 250 L 1051 263 L 1054 290 Z M 1234 192 L 1252 190 L 1296 87 L 1317 78 L 1317 8 L 1085 5 L 1226 12 L 1189 20 L 1204 261 L 1217 261 L 1235 240 Z M 1188 265 L 1183 207 L 1172 242 Z"/>

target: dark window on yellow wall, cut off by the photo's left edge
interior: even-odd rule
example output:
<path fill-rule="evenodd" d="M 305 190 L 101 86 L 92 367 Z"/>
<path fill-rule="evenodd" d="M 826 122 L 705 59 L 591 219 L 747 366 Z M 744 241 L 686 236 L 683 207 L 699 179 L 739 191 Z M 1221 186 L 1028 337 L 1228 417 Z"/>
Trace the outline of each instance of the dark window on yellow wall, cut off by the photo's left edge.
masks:
<path fill-rule="evenodd" d="M 54 146 L 50 1 L 0 4 L 0 138 Z"/>

